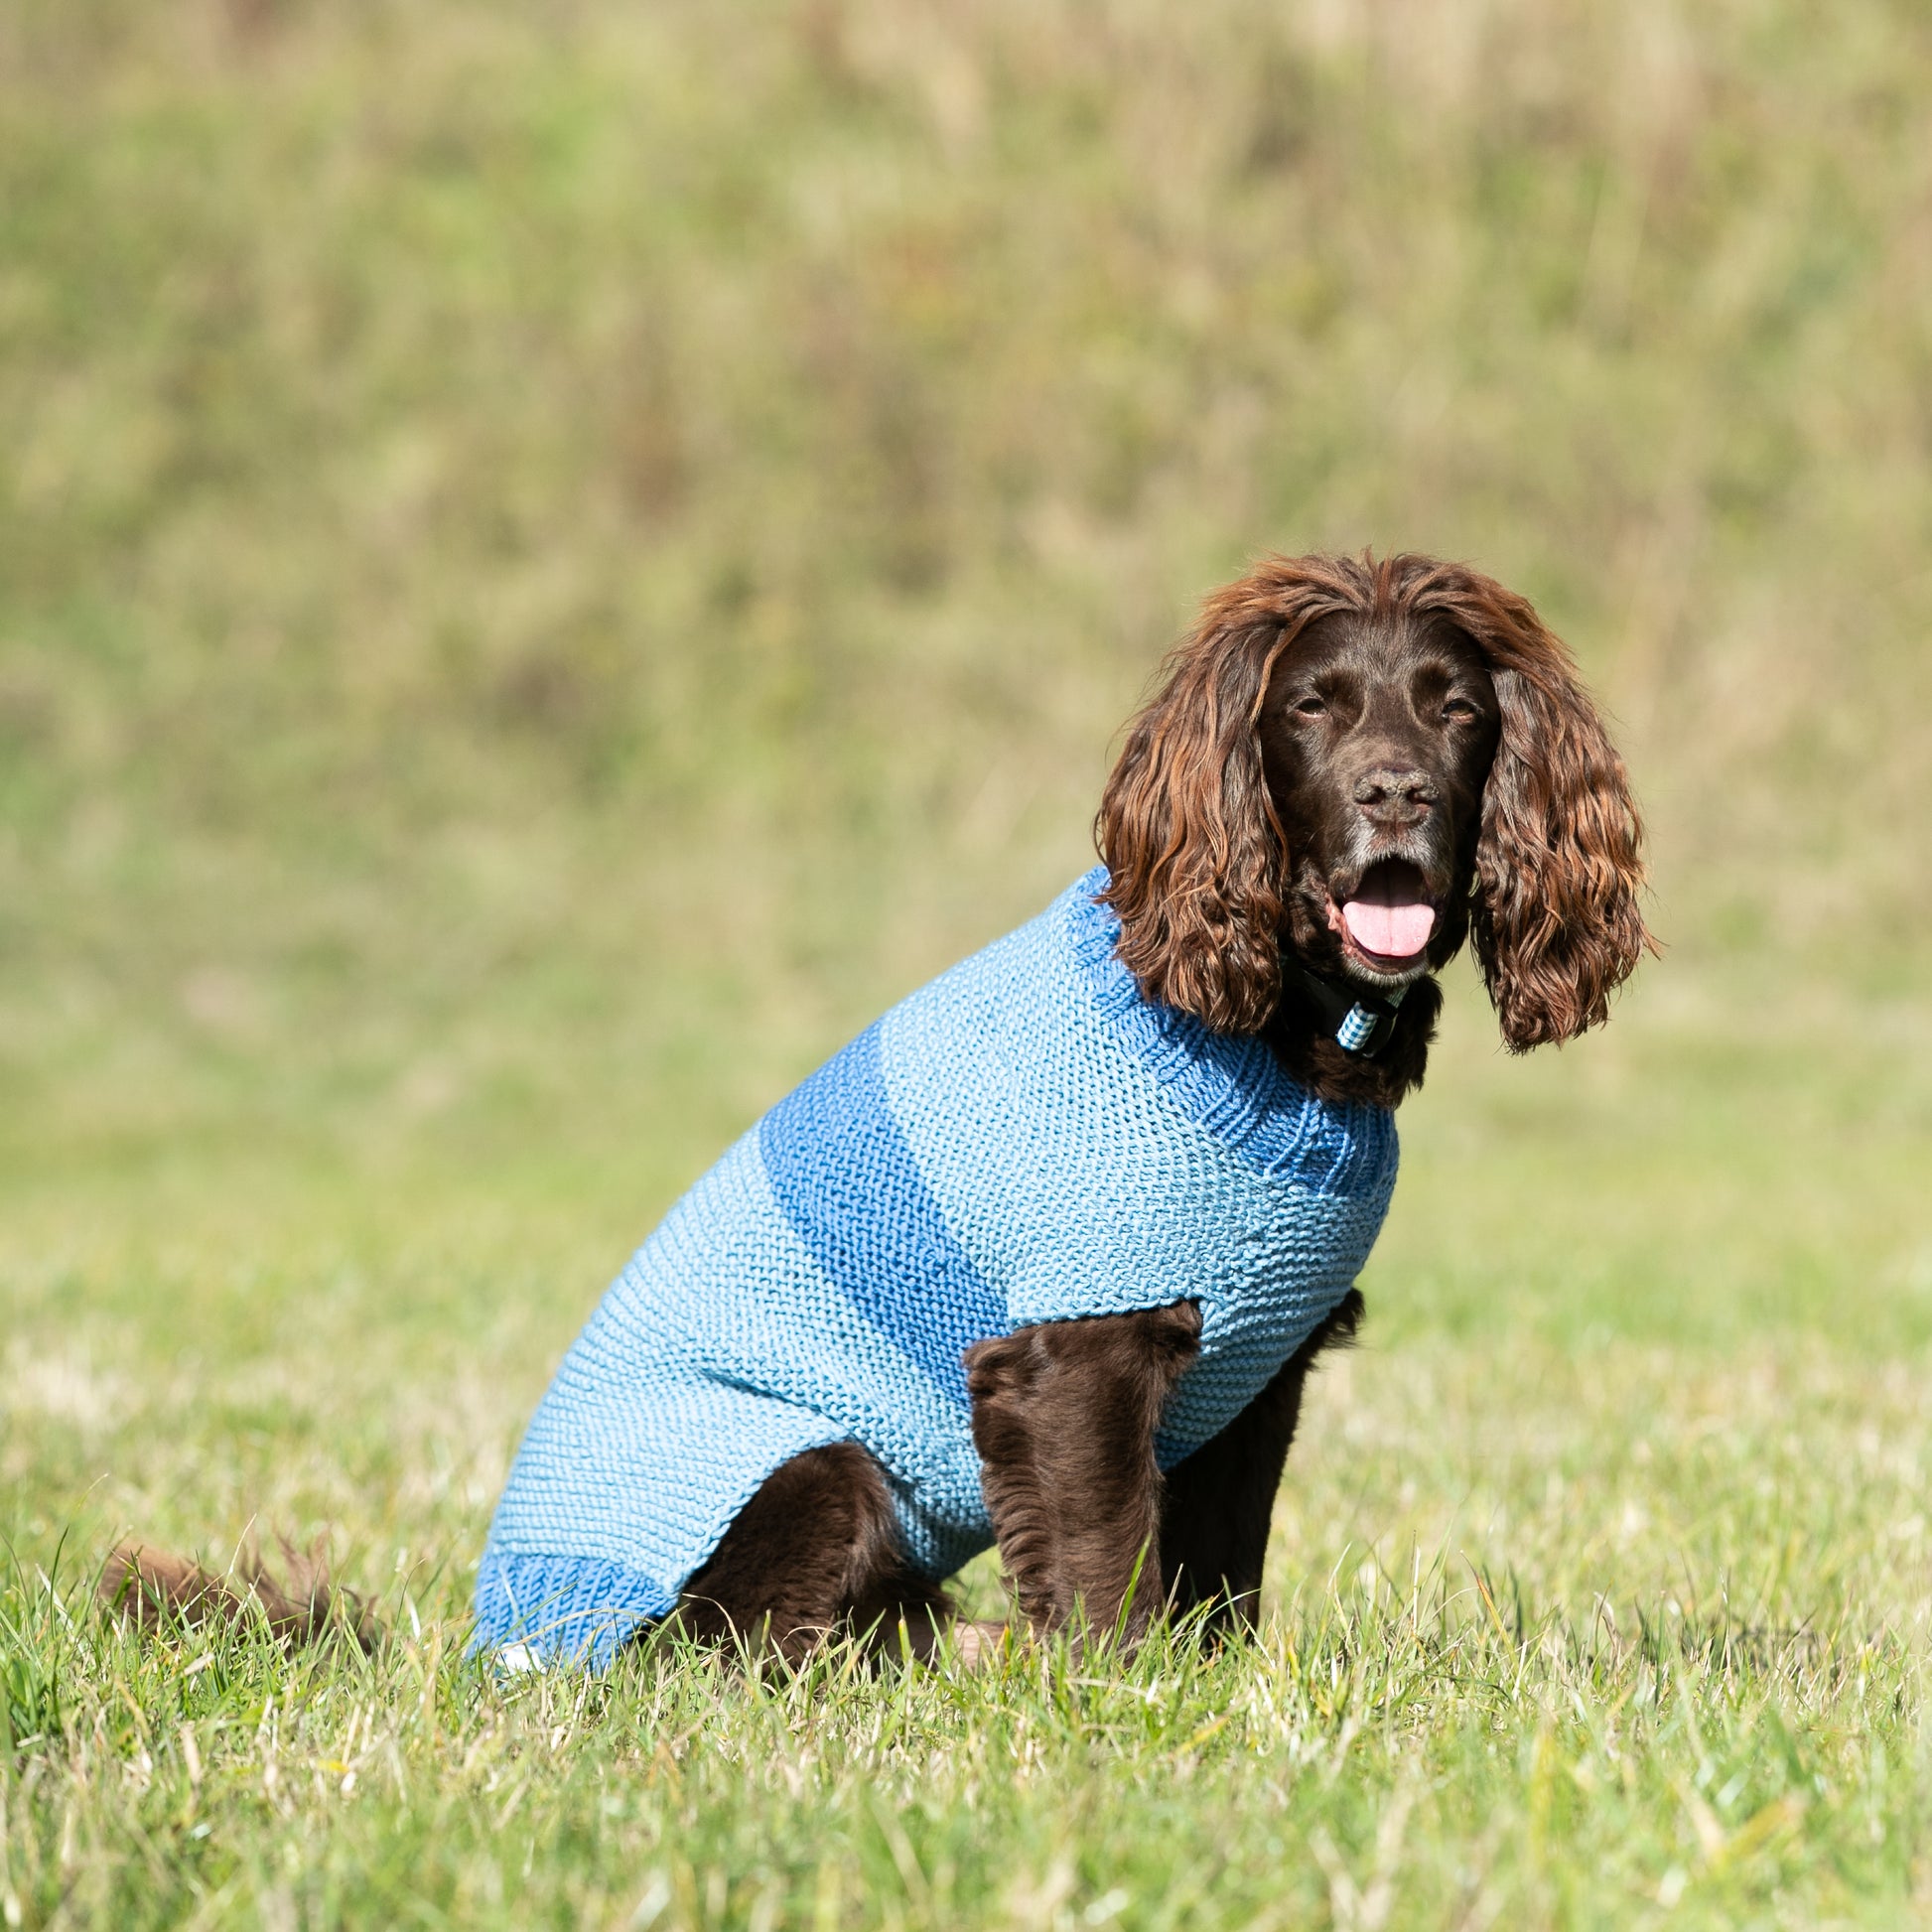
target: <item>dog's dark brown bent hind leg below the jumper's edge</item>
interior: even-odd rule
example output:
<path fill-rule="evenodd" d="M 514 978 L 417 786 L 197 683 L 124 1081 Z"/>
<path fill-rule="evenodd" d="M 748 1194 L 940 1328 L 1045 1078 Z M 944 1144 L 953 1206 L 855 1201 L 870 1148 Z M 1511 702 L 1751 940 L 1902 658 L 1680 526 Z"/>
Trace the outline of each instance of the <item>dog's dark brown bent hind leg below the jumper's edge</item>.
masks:
<path fill-rule="evenodd" d="M 885 1474 L 852 1441 L 781 1463 L 678 1605 L 694 1634 L 769 1644 L 794 1663 L 838 1631 L 895 1650 L 900 1627 L 923 1658 L 949 1617 L 945 1590 L 906 1563 Z"/>

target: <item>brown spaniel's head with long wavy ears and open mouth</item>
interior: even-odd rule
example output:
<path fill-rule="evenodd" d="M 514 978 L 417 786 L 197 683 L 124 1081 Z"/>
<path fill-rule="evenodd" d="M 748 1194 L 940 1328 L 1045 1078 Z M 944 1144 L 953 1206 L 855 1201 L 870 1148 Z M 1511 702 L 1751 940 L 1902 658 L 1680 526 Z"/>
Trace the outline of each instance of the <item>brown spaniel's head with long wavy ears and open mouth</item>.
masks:
<path fill-rule="evenodd" d="M 1648 945 L 1623 761 L 1530 605 L 1424 556 L 1273 558 L 1208 599 L 1095 825 L 1150 999 L 1260 1032 L 1281 952 L 1389 993 L 1474 935 L 1515 1049 Z"/>

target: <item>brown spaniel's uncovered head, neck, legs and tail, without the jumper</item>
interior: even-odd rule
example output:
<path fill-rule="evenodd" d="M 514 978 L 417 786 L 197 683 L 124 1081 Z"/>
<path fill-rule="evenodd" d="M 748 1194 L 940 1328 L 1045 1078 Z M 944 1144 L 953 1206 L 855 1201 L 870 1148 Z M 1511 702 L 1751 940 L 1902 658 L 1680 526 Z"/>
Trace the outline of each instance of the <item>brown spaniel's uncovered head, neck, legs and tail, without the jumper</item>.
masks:
<path fill-rule="evenodd" d="M 1265 1041 L 1320 1101 L 1374 1107 L 1422 1080 L 1432 976 L 1464 939 L 1511 1049 L 1605 1018 L 1648 945 L 1638 838 L 1563 645 L 1524 599 L 1420 556 L 1275 558 L 1215 593 L 1097 819 L 1101 898 L 1140 995 Z M 1155 1435 L 1200 1350 L 1194 1300 L 980 1329 L 972 1445 L 1028 1623 L 1086 1617 L 1132 1640 L 1161 1605 L 1252 1621 L 1308 1370 L 1360 1318 L 1350 1289 L 1165 1474 Z M 149 1605 L 234 1602 L 168 1559 L 116 1565 L 122 1596 Z M 788 1656 L 840 1627 L 904 1627 L 923 1652 L 949 1605 L 908 1561 L 887 1472 L 842 1439 L 763 1480 L 678 1615 Z M 298 1634 L 313 1621 L 284 1617 Z"/>

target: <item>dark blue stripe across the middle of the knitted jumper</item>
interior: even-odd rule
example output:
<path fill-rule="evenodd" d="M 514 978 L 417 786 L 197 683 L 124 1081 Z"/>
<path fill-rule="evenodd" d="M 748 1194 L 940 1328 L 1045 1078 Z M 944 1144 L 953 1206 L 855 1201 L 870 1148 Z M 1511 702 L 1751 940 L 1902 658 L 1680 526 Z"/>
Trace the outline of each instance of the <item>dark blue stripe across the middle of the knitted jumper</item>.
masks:
<path fill-rule="evenodd" d="M 885 1097 L 867 1026 L 757 1124 L 771 1192 L 852 1304 L 956 1403 L 960 1350 L 1007 1333 L 1007 1304 L 947 1227 Z"/>

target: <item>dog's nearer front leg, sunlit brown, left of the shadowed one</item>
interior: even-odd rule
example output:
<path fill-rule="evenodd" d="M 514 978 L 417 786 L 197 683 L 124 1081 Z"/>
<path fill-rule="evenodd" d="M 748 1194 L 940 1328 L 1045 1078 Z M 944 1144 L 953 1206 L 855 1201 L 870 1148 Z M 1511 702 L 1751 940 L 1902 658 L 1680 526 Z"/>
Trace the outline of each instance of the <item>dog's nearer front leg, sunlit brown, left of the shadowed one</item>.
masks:
<path fill-rule="evenodd" d="M 1200 1331 L 1200 1310 L 1175 1302 L 966 1350 L 985 1507 L 1036 1631 L 1084 1617 L 1134 1642 L 1165 1602 L 1153 1432 Z"/>

